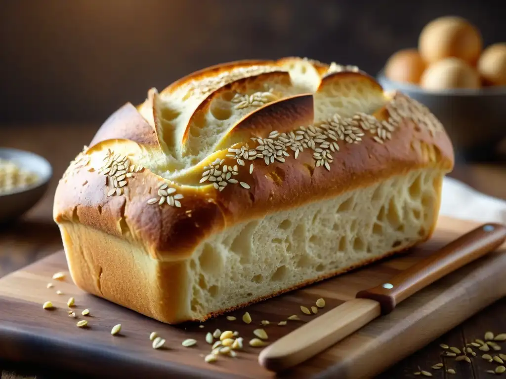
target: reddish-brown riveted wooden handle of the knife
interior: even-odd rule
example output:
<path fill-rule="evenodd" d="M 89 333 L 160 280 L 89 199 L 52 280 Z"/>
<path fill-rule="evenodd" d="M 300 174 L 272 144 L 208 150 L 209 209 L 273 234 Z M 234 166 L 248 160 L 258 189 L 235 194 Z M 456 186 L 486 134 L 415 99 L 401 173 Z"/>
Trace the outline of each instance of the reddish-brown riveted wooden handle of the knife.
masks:
<path fill-rule="evenodd" d="M 505 240 L 506 226 L 497 223 L 483 224 L 392 277 L 387 283 L 360 291 L 356 297 L 376 300 L 381 305 L 383 314 L 390 313 L 404 299 L 457 268 L 495 250 Z"/>

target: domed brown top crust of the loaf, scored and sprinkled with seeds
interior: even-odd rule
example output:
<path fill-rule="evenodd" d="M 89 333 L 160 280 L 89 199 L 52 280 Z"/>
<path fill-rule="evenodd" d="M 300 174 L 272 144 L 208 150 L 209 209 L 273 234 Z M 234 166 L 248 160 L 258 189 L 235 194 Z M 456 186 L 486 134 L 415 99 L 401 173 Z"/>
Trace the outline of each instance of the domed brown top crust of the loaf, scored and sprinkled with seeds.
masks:
<path fill-rule="evenodd" d="M 184 259 L 227 225 L 452 167 L 436 117 L 358 68 L 240 61 L 116 111 L 60 180 L 54 219 Z"/>

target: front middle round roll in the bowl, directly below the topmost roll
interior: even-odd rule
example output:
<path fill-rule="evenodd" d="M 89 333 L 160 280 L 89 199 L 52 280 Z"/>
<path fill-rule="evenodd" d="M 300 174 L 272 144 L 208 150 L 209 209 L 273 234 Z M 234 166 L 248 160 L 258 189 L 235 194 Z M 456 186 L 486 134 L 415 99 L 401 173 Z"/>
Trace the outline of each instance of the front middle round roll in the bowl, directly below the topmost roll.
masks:
<path fill-rule="evenodd" d="M 425 89 L 479 88 L 476 70 L 458 58 L 446 58 L 430 65 L 420 79 Z"/>

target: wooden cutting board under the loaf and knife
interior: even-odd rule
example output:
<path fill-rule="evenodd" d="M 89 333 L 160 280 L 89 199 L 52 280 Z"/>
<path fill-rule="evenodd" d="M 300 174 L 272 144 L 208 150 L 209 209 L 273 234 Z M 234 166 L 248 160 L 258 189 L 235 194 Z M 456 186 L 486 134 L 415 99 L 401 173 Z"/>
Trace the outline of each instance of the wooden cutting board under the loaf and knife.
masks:
<path fill-rule="evenodd" d="M 57 252 L 0 279 L 0 358 L 107 377 L 276 377 L 257 363 L 259 348 L 246 343 L 236 358 L 220 356 L 215 363 L 204 362 L 203 356 L 211 350 L 205 334 L 216 328 L 237 330 L 247 342 L 254 337 L 254 329 L 263 327 L 269 340 L 275 341 L 317 317 L 303 314 L 301 305 L 312 306 L 318 298 L 324 298 L 326 306 L 319 314 L 328 311 L 476 226 L 442 217 L 431 241 L 409 254 L 232 312 L 235 321 L 225 316 L 208 320 L 202 328 L 199 323 L 170 326 L 149 319 L 80 291 L 69 276 L 63 281 L 52 280 L 55 272 L 67 268 L 64 253 Z M 503 245 L 402 302 L 394 312 L 374 320 L 338 345 L 278 376 L 366 378 L 382 372 L 506 295 L 504 252 Z M 48 282 L 55 287 L 47 289 Z M 56 290 L 63 295 L 57 295 Z M 67 314 L 69 297 L 75 298 L 77 319 Z M 48 300 L 56 309 L 42 308 Z M 90 310 L 89 316 L 81 316 L 85 308 Z M 241 321 L 245 311 L 251 315 L 251 324 Z M 277 325 L 292 314 L 302 321 Z M 90 327 L 76 327 L 79 319 L 88 320 Z M 262 326 L 261 320 L 271 324 Z M 121 335 L 111 336 L 112 326 L 118 323 L 122 325 Z M 151 347 L 148 337 L 152 331 L 166 340 L 164 349 Z M 197 344 L 183 347 L 181 342 L 188 338 L 194 338 Z"/>

